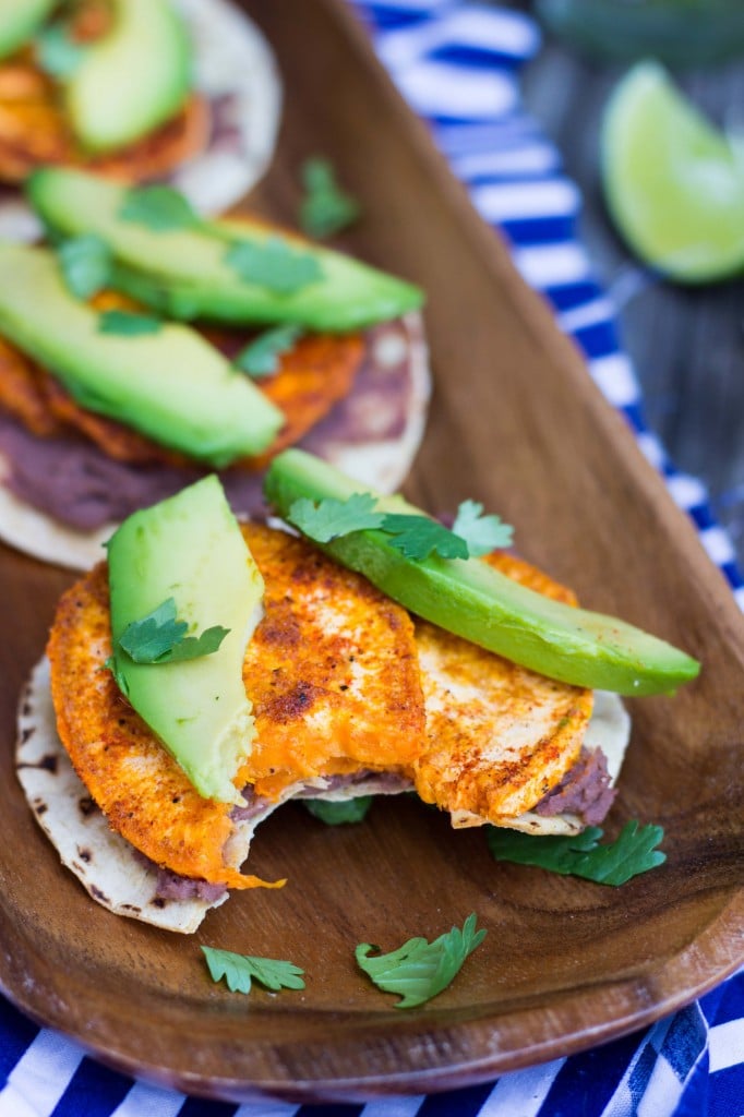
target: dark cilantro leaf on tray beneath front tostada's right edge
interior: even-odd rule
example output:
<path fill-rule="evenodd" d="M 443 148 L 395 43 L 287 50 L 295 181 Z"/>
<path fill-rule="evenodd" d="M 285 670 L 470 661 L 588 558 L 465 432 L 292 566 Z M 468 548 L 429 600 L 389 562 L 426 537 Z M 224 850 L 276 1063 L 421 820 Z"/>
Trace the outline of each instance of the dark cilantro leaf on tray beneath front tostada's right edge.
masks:
<path fill-rule="evenodd" d="M 627 822 L 617 840 L 600 846 L 603 831 L 588 827 L 574 837 L 534 837 L 517 830 L 489 827 L 488 848 L 497 861 L 536 865 L 563 876 L 583 877 L 600 885 L 624 885 L 631 877 L 648 872 L 666 861 L 656 849 L 664 830 L 656 825 Z"/>

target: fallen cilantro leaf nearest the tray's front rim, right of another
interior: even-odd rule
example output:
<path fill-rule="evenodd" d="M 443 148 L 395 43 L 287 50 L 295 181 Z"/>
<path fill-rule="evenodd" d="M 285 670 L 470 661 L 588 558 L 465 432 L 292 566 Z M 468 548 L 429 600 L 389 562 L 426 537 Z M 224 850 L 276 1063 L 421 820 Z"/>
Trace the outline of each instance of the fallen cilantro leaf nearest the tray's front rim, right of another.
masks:
<path fill-rule="evenodd" d="M 468 955 L 480 945 L 486 932 L 476 932 L 476 922 L 473 913 L 461 930 L 452 927 L 432 943 L 420 937 L 409 938 L 390 954 L 370 956 L 370 952 L 379 947 L 360 943 L 355 951 L 356 962 L 378 989 L 400 994 L 402 1000 L 397 1009 L 413 1009 L 447 989 Z"/>

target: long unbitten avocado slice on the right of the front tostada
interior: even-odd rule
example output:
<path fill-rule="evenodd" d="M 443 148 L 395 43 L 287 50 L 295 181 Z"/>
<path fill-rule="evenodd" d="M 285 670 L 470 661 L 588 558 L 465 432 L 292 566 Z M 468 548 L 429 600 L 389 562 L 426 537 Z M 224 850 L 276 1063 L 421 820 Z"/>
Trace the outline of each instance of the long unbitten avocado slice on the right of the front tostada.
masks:
<path fill-rule="evenodd" d="M 271 462 L 269 503 L 290 518 L 295 500 L 346 500 L 372 493 L 384 512 L 425 515 L 399 496 L 384 497 L 302 450 Z M 671 645 L 612 617 L 573 609 L 527 590 L 478 558 L 406 557 L 380 529 L 316 544 L 364 574 L 411 612 L 541 675 L 621 695 L 675 690 L 699 663 Z"/>

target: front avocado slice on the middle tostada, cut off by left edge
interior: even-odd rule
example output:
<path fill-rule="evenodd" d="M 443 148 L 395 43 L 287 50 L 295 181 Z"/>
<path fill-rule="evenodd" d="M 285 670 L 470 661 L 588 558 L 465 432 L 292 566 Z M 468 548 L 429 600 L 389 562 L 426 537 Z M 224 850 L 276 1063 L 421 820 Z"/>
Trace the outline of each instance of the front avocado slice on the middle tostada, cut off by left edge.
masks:
<path fill-rule="evenodd" d="M 90 411 L 217 468 L 266 449 L 282 427 L 283 413 L 188 326 L 101 333 L 53 252 L 0 242 L 0 334 Z"/>

